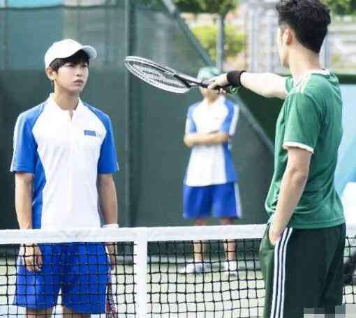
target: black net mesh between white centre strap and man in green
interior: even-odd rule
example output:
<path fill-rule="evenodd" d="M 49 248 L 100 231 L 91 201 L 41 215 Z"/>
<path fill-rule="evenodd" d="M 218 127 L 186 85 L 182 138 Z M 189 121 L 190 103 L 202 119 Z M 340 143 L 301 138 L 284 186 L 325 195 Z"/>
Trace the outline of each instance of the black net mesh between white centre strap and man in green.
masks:
<path fill-rule="evenodd" d="M 205 250 L 202 262 L 193 241 L 149 245 L 149 317 L 262 317 L 259 240 L 195 243 Z"/>

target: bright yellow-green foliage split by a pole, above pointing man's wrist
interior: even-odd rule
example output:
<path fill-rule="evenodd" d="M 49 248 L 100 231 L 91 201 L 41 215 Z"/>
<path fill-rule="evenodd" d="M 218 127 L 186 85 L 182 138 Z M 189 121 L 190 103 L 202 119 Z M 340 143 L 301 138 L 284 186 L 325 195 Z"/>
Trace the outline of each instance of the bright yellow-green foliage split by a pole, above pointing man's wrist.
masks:
<path fill-rule="evenodd" d="M 209 53 L 213 61 L 216 60 L 216 34 L 217 28 L 214 25 L 203 25 L 192 28 L 193 33 L 198 38 L 202 46 Z M 227 25 L 225 26 L 225 56 L 236 56 L 244 49 L 245 36 L 244 33 L 238 33 L 236 28 Z"/>

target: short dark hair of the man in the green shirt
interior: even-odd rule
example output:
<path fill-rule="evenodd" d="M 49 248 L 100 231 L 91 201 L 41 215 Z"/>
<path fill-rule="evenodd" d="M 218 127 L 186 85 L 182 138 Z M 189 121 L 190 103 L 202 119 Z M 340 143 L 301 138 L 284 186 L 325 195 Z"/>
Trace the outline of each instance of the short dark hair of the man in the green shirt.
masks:
<path fill-rule="evenodd" d="M 320 0 L 281 0 L 276 5 L 279 26 L 288 25 L 299 43 L 319 53 L 331 22 L 329 8 Z"/>

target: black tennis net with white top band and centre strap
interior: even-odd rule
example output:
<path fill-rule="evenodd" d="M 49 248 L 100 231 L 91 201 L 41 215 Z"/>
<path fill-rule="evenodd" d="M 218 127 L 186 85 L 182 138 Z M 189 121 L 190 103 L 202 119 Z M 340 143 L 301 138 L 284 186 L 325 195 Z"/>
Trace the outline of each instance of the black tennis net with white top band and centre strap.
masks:
<path fill-rule="evenodd" d="M 265 225 L 0 231 L 0 316 L 53 307 L 52 316 L 61 317 L 63 304 L 91 317 L 262 317 L 264 231 Z M 202 263 L 194 242 L 206 250 Z M 236 259 L 227 260 L 224 247 L 232 243 Z M 107 252 L 117 262 L 110 270 Z M 348 265 L 355 253 L 356 228 L 348 228 Z M 31 263 L 38 268 L 24 265 Z M 348 280 L 343 300 L 353 304 L 356 285 L 353 276 Z"/>

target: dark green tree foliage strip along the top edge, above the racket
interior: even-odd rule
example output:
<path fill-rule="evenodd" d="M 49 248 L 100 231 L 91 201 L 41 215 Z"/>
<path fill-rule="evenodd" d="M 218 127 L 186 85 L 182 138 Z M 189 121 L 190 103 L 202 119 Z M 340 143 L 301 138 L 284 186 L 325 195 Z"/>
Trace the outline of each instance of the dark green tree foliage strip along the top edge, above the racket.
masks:
<path fill-rule="evenodd" d="M 174 2 L 181 12 L 225 15 L 236 8 L 238 0 L 174 0 Z"/>

